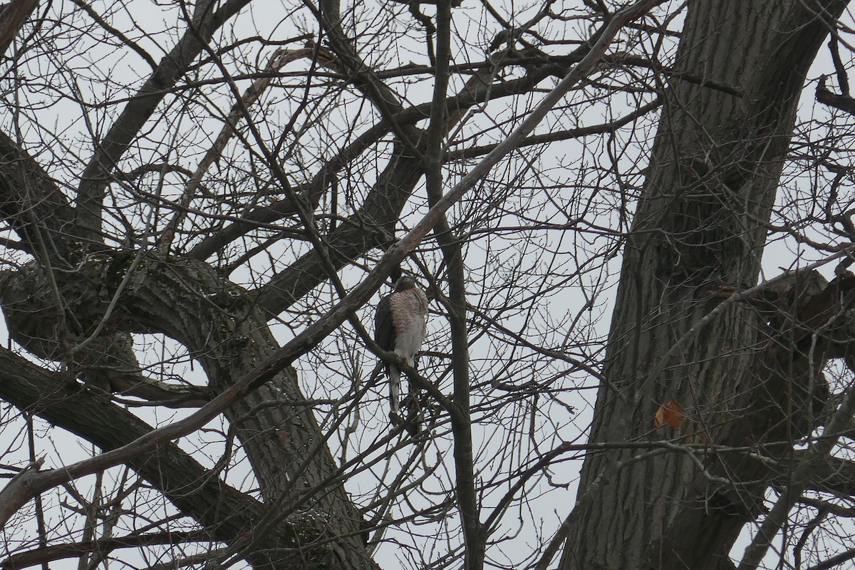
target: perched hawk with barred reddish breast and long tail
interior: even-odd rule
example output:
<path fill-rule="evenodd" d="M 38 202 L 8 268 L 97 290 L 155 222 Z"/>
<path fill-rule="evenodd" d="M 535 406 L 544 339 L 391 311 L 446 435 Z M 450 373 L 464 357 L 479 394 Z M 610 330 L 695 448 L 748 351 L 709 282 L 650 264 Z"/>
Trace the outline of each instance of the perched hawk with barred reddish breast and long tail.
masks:
<path fill-rule="evenodd" d="M 408 366 L 416 366 L 416 353 L 422 348 L 428 316 L 428 297 L 416 287 L 416 281 L 402 277 L 395 291 L 380 299 L 374 314 L 374 340 L 380 348 L 394 352 Z M 401 371 L 386 364 L 389 378 L 389 419 L 398 424 L 398 399 L 401 392 Z"/>

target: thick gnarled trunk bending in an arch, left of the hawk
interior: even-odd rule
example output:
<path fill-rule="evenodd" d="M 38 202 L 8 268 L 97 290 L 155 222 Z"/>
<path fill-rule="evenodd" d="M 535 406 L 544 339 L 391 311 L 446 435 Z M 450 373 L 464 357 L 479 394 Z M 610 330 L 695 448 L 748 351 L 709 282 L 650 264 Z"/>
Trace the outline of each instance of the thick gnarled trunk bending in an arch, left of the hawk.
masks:
<path fill-rule="evenodd" d="M 63 343 L 79 343 L 103 318 L 116 288 L 132 271 L 134 256 L 130 252 L 85 256 L 74 279 L 60 284 L 65 308 L 83 327 L 82 333 L 56 334 L 53 295 L 40 266 L 33 263 L 5 274 L 3 302 L 10 332 L 39 356 L 62 355 Z M 145 256 L 133 267 L 122 302 L 104 328 L 115 335 L 160 332 L 178 340 L 202 363 L 209 387 L 217 393 L 278 348 L 266 317 L 254 301 L 254 296 L 221 279 L 201 261 L 162 261 Z M 88 374 L 84 377 L 88 384 Z M 286 369 L 239 399 L 225 414 L 246 451 L 264 499 L 263 507 L 257 505 L 263 516 L 255 517 L 251 529 L 244 532 L 251 532 L 253 544 L 267 554 L 255 556 L 255 548 L 250 546 L 247 557 L 254 563 L 283 568 L 298 562 L 307 568 L 375 567 L 364 548 L 362 515 L 345 492 L 324 440 L 325 431 L 321 431 L 311 409 L 296 374 Z M 107 444 L 113 442 L 108 440 Z M 186 460 L 177 450 L 170 451 L 174 453 L 163 455 L 164 459 Z M 214 511 L 209 520 L 199 516 L 193 509 L 203 503 L 186 500 L 182 497 L 186 489 L 166 477 L 174 470 L 161 467 L 151 471 L 146 459 L 133 467 L 178 508 L 211 526 L 222 518 Z M 212 499 L 209 496 L 207 500 Z M 290 529 L 290 536 L 282 533 L 283 528 Z M 238 534 L 232 528 L 221 530 L 218 536 Z M 281 552 L 271 552 L 271 544 L 277 544 Z"/>

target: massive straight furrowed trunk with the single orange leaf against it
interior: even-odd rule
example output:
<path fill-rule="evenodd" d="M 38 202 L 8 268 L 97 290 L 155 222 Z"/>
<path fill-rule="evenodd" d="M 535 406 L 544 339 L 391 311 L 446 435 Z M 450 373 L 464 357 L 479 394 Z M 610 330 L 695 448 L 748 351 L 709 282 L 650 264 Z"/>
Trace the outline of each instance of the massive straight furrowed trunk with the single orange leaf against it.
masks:
<path fill-rule="evenodd" d="M 734 85 L 743 95 L 680 79 L 668 87 L 612 320 L 604 372 L 617 391 L 601 386 L 592 441 L 643 444 L 674 437 L 653 423 L 671 398 L 704 433 L 699 440 L 746 438 L 728 426 L 748 413 L 746 395 L 759 381 L 756 362 L 769 355 L 762 350 L 766 324 L 756 309 L 734 303 L 693 326 L 721 302 L 716 291 L 757 282 L 764 223 L 805 73 L 845 5 L 689 3 L 675 78 L 690 73 Z M 671 350 L 681 338 L 687 342 Z M 628 447 L 587 457 L 581 510 L 560 567 L 731 566 L 729 549 L 741 526 L 758 514 L 762 489 L 722 491 L 687 455 L 616 463 L 644 451 Z M 748 473 L 716 468 L 725 476 Z"/>

